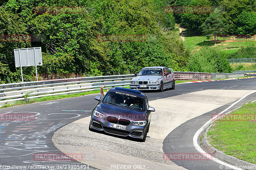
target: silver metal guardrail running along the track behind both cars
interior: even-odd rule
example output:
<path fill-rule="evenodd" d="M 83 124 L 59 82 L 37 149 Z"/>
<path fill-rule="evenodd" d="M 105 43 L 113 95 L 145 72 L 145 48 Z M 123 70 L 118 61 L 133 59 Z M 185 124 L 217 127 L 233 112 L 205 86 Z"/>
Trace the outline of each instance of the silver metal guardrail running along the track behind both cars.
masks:
<path fill-rule="evenodd" d="M 174 71 L 176 80 L 203 80 L 216 78 L 243 77 L 244 73 L 200 73 Z M 19 100 L 99 90 L 102 84 L 106 87 L 130 85 L 133 74 L 116 76 L 97 76 L 83 78 L 67 78 L 24 83 L 0 85 L 0 105 L 11 104 Z M 24 96 L 27 96 L 24 98 Z"/>

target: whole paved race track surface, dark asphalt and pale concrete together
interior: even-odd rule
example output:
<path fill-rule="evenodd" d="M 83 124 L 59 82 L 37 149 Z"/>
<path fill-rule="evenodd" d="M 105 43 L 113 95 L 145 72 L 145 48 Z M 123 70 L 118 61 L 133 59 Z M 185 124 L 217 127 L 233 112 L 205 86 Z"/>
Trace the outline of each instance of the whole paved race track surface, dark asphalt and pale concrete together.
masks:
<path fill-rule="evenodd" d="M 196 131 L 212 115 L 254 90 L 255 78 L 248 78 L 184 83 L 177 84 L 175 90 L 145 92 L 149 105 L 156 108 L 152 115 L 155 124 L 151 122 L 145 143 L 88 131 L 86 121 L 97 103 L 94 97 L 100 94 L 0 109 L 0 169 L 95 169 L 96 159 L 98 169 L 117 169 L 105 161 L 109 158 L 119 165 L 122 159 L 130 165 L 138 161 L 136 165 L 145 165 L 141 169 L 220 169 L 212 160 L 167 160 L 163 154 L 198 153 L 193 145 Z M 255 93 L 228 111 L 254 100 Z M 17 115 L 23 118 L 15 118 Z M 84 148 L 93 155 L 84 155 Z M 78 161 L 63 157 L 61 151 Z M 62 157 L 53 161 L 51 154 Z"/>

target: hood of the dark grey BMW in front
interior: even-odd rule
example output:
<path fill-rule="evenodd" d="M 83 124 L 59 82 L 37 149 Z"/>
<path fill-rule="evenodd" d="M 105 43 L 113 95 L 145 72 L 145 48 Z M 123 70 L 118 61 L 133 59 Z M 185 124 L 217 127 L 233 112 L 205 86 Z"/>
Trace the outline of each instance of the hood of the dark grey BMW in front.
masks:
<path fill-rule="evenodd" d="M 96 107 L 96 110 L 108 116 L 118 117 L 118 119 L 128 119 L 130 121 L 146 120 L 146 111 L 134 109 L 130 107 L 124 107 L 105 102 L 100 102 Z"/>

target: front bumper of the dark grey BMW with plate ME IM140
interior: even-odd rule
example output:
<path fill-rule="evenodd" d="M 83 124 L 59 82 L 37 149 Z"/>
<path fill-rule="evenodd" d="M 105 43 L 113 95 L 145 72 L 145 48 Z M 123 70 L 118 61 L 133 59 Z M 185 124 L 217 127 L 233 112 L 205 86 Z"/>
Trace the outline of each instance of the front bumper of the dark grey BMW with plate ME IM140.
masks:
<path fill-rule="evenodd" d="M 137 125 L 133 125 L 131 122 L 128 126 L 126 126 L 125 130 L 121 130 L 121 129 L 108 127 L 108 123 L 109 122 L 107 121 L 106 117 L 102 119 L 92 115 L 90 127 L 94 130 L 98 130 L 102 132 L 104 131 L 106 133 L 110 133 L 113 135 L 118 135 L 123 137 L 129 136 L 137 139 L 143 138 L 143 135 L 145 134 L 148 127 L 148 123 L 145 126 L 137 126 Z"/>

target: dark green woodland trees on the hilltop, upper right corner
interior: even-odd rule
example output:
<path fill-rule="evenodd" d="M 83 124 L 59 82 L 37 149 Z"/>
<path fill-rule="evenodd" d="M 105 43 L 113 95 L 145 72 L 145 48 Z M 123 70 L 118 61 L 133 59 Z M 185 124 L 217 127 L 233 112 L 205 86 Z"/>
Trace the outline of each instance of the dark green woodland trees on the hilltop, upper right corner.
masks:
<path fill-rule="evenodd" d="M 176 0 L 176 6 L 210 6 L 212 13 L 220 14 L 227 34 L 256 34 L 256 0 Z M 176 22 L 198 29 L 210 13 L 177 13 Z"/>

